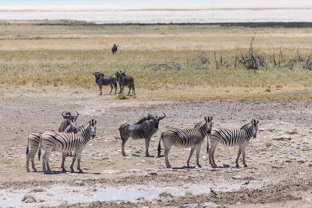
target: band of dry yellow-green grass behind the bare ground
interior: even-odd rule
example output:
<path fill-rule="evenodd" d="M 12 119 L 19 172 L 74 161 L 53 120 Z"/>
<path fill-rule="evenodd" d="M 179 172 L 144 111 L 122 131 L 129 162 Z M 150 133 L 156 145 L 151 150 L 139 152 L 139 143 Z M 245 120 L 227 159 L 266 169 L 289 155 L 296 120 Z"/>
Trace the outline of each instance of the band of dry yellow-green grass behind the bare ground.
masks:
<path fill-rule="evenodd" d="M 311 96 L 312 71 L 303 69 L 304 63 L 296 63 L 293 70 L 278 68 L 269 56 L 273 45 L 276 59 L 280 47 L 285 59 L 297 58 L 297 51 L 307 58 L 312 28 L 37 23 L 0 24 L 2 90 L 12 85 L 32 86 L 47 93 L 50 88 L 46 86 L 98 90 L 92 72 L 114 75 L 121 70 L 135 78 L 136 90 L 141 91 L 138 95 L 146 93 L 147 97 L 205 100 L 206 93 L 215 100 L 233 95 L 243 100 Z M 266 55 L 268 70 L 254 73 L 234 68 L 234 56 L 248 50 L 254 35 L 253 46 Z M 119 44 L 117 55 L 111 52 L 114 43 Z M 231 67 L 216 70 L 213 51 Z M 205 53 L 209 62 L 200 63 L 199 53 Z M 166 62 L 180 64 L 181 70 L 146 68 Z M 201 69 L 190 69 L 192 64 Z"/>

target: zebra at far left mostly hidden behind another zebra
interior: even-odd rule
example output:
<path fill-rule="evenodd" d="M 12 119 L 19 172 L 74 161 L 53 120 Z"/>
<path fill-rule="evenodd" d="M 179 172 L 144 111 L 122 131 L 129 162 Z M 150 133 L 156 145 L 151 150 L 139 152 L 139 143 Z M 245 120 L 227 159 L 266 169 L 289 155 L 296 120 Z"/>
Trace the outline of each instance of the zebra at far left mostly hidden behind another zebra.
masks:
<path fill-rule="evenodd" d="M 76 120 L 77 119 L 73 119 L 73 121 L 69 120 L 68 119 L 68 123 L 69 125 L 63 129 L 63 132 L 77 132 L 77 123 L 76 123 Z M 37 169 L 35 168 L 35 165 L 34 165 L 34 158 L 35 158 L 35 155 L 36 155 L 36 152 L 38 151 L 38 148 L 39 148 L 39 142 L 40 142 L 40 136 L 42 135 L 43 132 L 39 132 L 39 131 L 36 131 L 36 132 L 33 132 L 29 135 L 28 137 L 28 141 L 27 141 L 27 146 L 26 146 L 26 169 L 27 169 L 27 172 L 30 172 L 29 170 L 29 159 L 31 159 L 31 167 L 33 169 L 34 172 L 37 172 Z M 66 156 L 66 153 L 65 153 L 65 156 Z M 63 157 L 62 157 L 62 169 L 63 171 L 66 171 L 65 168 L 64 168 L 64 161 L 65 161 L 65 156 L 63 154 Z"/>

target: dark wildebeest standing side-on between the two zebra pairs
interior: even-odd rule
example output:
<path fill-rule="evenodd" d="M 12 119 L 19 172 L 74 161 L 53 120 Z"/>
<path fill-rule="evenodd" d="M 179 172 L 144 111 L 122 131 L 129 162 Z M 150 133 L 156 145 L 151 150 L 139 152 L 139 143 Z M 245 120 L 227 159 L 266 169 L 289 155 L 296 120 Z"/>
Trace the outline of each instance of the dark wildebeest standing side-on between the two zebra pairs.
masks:
<path fill-rule="evenodd" d="M 127 142 L 129 137 L 132 137 L 133 139 L 145 138 L 145 147 L 146 147 L 145 155 L 149 157 L 150 156 L 149 146 L 150 146 L 151 137 L 158 130 L 159 120 L 163 119 L 165 116 L 166 116 L 165 114 L 164 116 L 157 116 L 157 115 L 152 116 L 149 113 L 147 117 L 142 118 L 137 123 L 122 124 L 119 127 L 119 131 L 120 131 L 120 136 L 122 139 L 121 147 L 122 147 L 123 155 L 126 156 L 125 143 Z"/>

